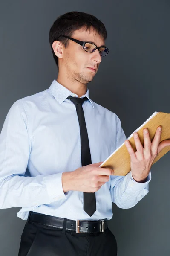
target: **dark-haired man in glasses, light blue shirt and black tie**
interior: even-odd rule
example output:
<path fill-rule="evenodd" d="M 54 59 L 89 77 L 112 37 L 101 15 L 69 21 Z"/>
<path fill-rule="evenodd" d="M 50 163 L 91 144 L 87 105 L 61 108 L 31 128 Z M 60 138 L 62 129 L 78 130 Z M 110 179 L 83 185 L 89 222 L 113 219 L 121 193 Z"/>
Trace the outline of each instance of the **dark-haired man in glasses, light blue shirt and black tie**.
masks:
<path fill-rule="evenodd" d="M 153 160 L 169 143 L 159 143 L 157 129 L 152 144 L 144 134 L 143 148 L 135 133 L 137 151 L 127 145 L 130 173 L 99 167 L 126 140 L 118 116 L 93 102 L 87 88 L 109 52 L 106 38 L 92 15 L 58 17 L 49 32 L 57 80 L 14 102 L 6 116 L 0 208 L 22 207 L 17 216 L 27 222 L 19 256 L 116 256 L 107 226 L 112 202 L 127 209 L 147 195 Z"/>

